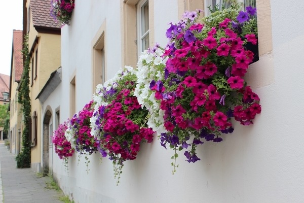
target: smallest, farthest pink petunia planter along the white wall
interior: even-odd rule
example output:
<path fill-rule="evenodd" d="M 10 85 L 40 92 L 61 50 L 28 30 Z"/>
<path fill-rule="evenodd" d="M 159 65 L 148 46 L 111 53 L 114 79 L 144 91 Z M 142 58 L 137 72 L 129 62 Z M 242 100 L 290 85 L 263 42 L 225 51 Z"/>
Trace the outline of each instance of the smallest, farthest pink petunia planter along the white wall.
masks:
<path fill-rule="evenodd" d="M 74 153 L 71 143 L 68 142 L 64 136 L 66 129 L 67 122 L 64 122 L 58 126 L 58 129 L 54 131 L 52 136 L 52 142 L 55 145 L 55 152 L 58 154 L 60 159 L 64 160 L 65 167 L 67 167 L 68 157 L 72 156 Z"/>

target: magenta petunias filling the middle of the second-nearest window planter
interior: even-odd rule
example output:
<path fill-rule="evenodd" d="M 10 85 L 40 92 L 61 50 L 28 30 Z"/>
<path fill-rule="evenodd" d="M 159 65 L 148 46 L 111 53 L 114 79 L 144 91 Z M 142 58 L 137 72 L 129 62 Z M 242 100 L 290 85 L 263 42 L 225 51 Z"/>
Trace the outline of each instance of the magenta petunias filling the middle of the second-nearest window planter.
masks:
<path fill-rule="evenodd" d="M 105 107 L 103 113 L 101 151 L 107 151 L 110 159 L 117 159 L 118 155 L 123 160 L 135 159 L 140 143 L 142 141 L 150 143 L 153 140 L 154 131 L 151 128 L 141 127 L 142 118 L 146 114 L 147 112 L 141 109 L 137 98 L 129 89 L 121 90 Z"/>

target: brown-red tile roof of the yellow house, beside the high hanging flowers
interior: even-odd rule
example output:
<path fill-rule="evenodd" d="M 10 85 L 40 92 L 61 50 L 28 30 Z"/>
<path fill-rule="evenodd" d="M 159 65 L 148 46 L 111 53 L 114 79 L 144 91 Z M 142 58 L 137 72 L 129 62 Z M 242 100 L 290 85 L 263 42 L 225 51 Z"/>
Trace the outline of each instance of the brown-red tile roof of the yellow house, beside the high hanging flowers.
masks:
<path fill-rule="evenodd" d="M 50 14 L 51 0 L 30 0 L 30 8 L 34 26 L 60 28 Z"/>

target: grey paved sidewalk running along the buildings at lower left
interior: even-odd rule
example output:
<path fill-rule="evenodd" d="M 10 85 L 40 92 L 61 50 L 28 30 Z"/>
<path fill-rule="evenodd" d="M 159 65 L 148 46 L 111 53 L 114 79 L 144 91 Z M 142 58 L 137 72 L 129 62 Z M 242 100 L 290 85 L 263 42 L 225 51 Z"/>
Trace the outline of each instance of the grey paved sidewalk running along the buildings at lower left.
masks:
<path fill-rule="evenodd" d="M 62 192 L 47 189 L 48 177 L 39 178 L 30 168 L 17 168 L 15 155 L 0 144 L 0 203 L 62 203 Z"/>

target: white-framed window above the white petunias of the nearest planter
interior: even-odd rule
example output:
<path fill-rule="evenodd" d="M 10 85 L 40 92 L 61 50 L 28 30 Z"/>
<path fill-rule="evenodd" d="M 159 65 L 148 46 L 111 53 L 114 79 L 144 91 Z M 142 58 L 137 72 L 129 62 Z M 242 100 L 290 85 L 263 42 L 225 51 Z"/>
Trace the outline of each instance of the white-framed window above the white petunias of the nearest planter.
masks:
<path fill-rule="evenodd" d="M 149 47 L 149 4 L 139 1 L 137 4 L 137 50 L 138 57 Z"/>

